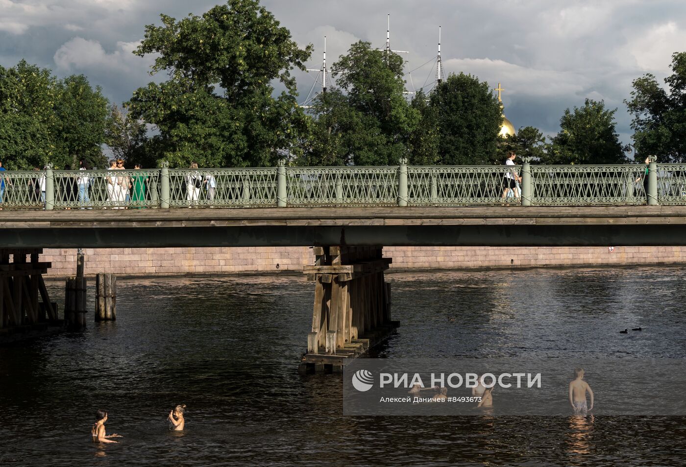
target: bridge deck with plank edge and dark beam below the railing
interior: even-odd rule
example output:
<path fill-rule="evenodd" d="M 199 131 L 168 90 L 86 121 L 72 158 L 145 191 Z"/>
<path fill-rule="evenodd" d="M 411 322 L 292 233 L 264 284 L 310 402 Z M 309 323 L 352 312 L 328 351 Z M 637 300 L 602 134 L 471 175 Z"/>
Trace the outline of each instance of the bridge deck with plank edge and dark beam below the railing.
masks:
<path fill-rule="evenodd" d="M 12 248 L 686 244 L 686 206 L 0 211 Z"/>

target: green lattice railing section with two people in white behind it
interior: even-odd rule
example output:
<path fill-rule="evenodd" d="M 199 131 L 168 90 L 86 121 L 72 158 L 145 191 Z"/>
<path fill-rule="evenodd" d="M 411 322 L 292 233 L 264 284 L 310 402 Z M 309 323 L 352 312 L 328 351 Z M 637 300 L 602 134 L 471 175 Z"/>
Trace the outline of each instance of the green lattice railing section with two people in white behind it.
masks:
<path fill-rule="evenodd" d="M 171 206 L 276 206 L 276 168 L 169 169 Z"/>

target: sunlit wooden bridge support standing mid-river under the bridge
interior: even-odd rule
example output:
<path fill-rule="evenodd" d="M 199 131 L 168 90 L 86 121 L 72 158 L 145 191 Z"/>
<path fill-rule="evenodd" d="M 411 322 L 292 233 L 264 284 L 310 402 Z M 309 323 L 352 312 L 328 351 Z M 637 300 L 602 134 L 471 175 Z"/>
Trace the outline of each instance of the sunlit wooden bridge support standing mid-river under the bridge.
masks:
<path fill-rule="evenodd" d="M 301 371 L 340 372 L 385 340 L 398 322 L 390 319 L 392 262 L 381 246 L 314 247 L 315 264 L 303 272 L 315 283 L 312 329 Z"/>

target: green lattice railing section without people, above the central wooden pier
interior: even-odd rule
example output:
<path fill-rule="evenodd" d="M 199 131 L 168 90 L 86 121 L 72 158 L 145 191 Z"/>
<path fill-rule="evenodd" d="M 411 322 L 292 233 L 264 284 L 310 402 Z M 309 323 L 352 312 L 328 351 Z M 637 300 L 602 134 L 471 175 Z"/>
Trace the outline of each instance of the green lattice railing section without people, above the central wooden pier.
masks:
<path fill-rule="evenodd" d="M 287 167 L 287 204 L 391 206 L 397 175 L 397 167 Z"/>

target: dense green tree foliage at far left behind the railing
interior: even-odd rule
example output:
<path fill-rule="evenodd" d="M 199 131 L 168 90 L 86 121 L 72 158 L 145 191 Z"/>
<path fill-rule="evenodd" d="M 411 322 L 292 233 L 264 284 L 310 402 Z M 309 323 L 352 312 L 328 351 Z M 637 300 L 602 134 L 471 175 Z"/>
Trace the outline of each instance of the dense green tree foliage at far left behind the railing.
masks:
<path fill-rule="evenodd" d="M 107 99 L 83 75 L 56 80 L 21 60 L 0 67 L 0 157 L 8 169 L 78 167 L 102 157 Z"/>

